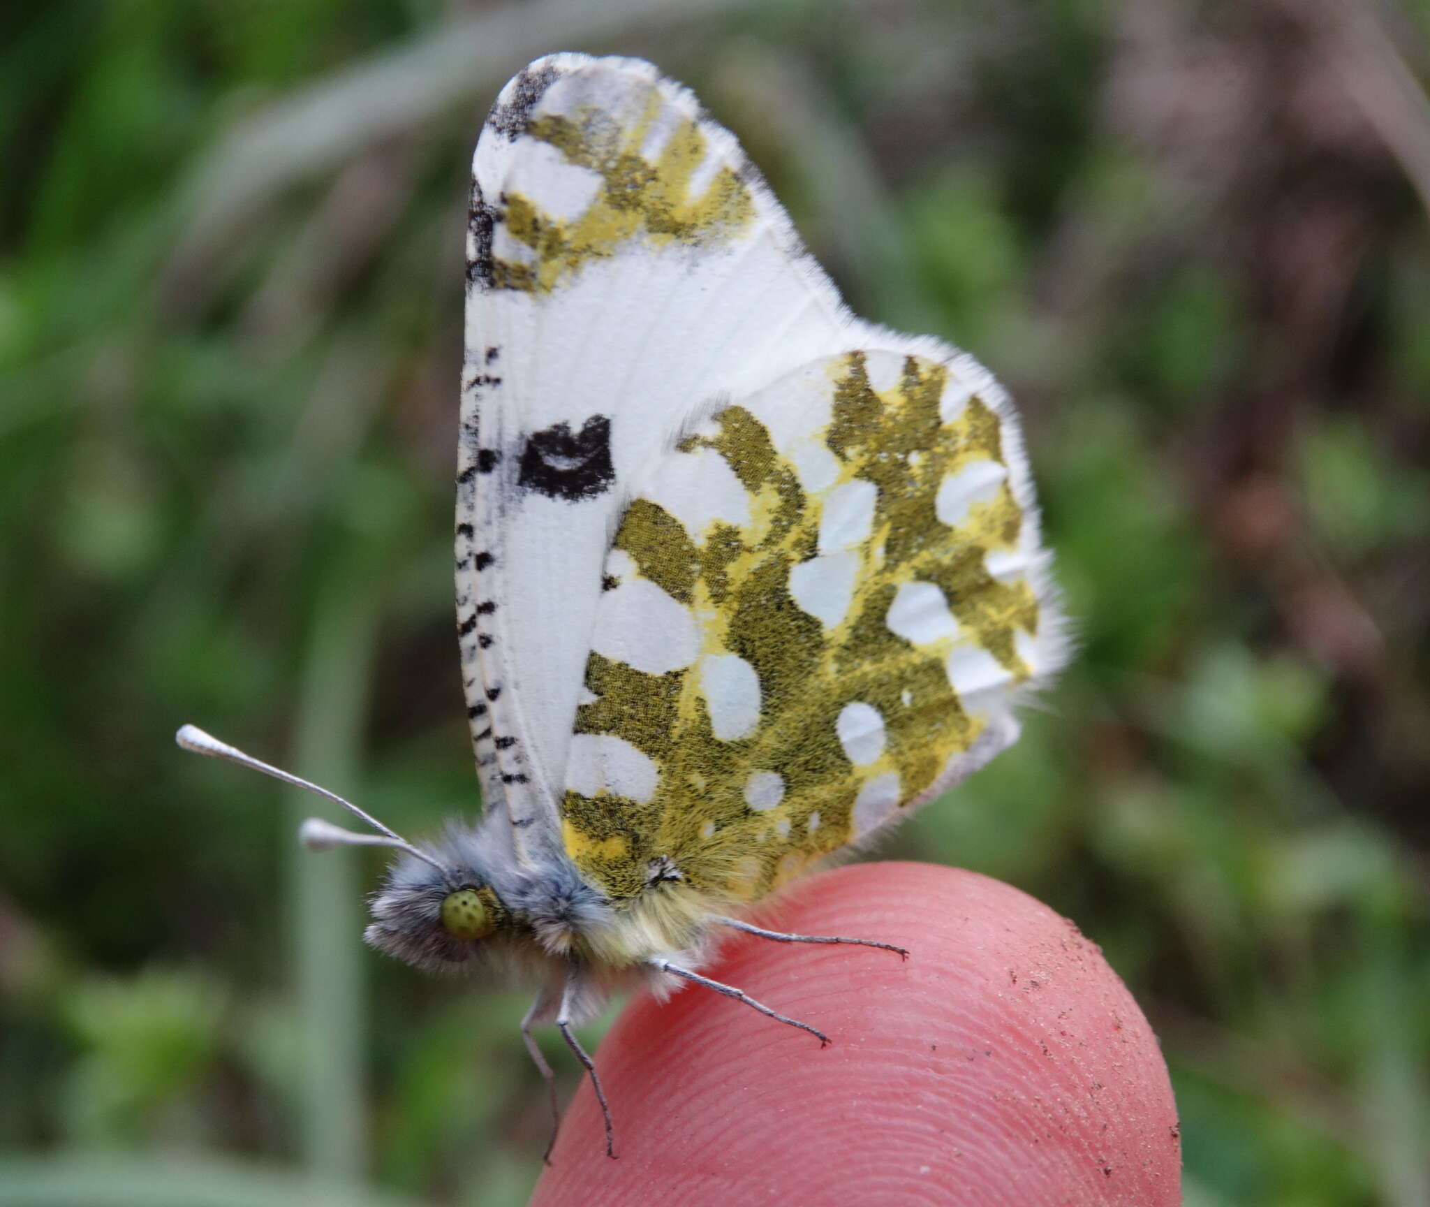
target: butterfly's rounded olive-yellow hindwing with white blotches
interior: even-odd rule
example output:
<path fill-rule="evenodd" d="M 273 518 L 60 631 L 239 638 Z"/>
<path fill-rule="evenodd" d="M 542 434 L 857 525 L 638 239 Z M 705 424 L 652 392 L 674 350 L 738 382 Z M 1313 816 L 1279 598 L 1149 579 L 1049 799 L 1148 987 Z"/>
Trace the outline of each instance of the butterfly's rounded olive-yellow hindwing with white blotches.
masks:
<path fill-rule="evenodd" d="M 1011 405 L 932 340 L 678 439 L 606 555 L 562 802 L 612 898 L 758 898 L 977 769 L 1065 656 Z"/>

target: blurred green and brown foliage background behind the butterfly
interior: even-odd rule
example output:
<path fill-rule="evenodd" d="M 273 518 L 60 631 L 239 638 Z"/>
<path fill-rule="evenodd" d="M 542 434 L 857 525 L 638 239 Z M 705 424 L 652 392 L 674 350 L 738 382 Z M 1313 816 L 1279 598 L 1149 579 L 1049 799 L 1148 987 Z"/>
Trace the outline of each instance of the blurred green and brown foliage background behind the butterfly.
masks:
<path fill-rule="evenodd" d="M 0 10 L 0 1207 L 536 1177 L 525 994 L 366 952 L 380 858 L 172 734 L 473 809 L 468 164 L 549 50 L 1021 402 L 1081 656 L 881 854 L 1103 944 L 1193 1207 L 1430 1203 L 1430 3 L 114 0 Z"/>

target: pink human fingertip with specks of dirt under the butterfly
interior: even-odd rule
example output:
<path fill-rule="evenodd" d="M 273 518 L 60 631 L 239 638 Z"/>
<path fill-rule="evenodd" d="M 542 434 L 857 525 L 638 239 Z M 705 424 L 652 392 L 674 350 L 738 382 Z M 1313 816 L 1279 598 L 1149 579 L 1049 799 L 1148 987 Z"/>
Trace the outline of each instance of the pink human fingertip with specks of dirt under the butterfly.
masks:
<path fill-rule="evenodd" d="M 862 864 L 751 921 L 898 955 L 734 935 L 702 971 L 819 1041 L 691 985 L 641 995 L 576 1093 L 533 1204 L 1181 1201 L 1177 1108 L 1147 1020 L 1070 921 L 987 877 Z"/>

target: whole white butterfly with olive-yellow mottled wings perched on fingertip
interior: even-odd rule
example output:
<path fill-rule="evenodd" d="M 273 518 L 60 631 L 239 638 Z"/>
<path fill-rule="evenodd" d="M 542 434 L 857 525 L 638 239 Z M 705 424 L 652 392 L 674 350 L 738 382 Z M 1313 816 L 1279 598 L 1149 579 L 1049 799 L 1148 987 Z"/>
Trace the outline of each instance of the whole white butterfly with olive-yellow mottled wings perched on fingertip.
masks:
<path fill-rule="evenodd" d="M 735 137 L 633 59 L 552 54 L 476 146 L 456 615 L 482 815 L 365 938 L 538 987 L 522 1035 L 695 984 L 739 914 L 1018 738 L 1068 655 L 1022 436 L 970 356 L 855 317 Z M 907 954 L 907 952 L 902 952 Z M 552 1113 L 556 1115 L 555 1091 Z M 548 1150 L 549 1151 L 549 1150 Z"/>

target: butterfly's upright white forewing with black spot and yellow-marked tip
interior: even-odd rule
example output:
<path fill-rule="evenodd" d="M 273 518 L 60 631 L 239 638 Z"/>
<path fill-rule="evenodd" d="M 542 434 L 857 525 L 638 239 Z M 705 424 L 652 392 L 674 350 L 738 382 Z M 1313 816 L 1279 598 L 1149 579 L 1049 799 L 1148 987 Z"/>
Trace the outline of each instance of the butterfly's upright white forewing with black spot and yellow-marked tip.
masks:
<path fill-rule="evenodd" d="M 648 63 L 556 54 L 478 143 L 458 626 L 488 807 L 556 842 L 631 483 L 709 400 L 849 346 L 855 320 L 735 139 Z"/>

